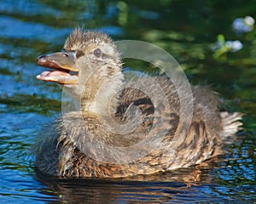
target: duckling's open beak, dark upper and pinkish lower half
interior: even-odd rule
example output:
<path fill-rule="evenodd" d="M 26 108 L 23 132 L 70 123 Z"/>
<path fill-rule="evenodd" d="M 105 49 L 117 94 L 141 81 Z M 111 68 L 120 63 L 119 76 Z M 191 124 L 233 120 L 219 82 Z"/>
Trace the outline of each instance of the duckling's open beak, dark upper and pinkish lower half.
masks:
<path fill-rule="evenodd" d="M 76 61 L 75 52 L 44 54 L 39 56 L 36 61 L 38 65 L 53 69 L 42 72 L 37 76 L 37 79 L 60 84 L 75 84 L 78 82 L 79 70 L 73 68 Z"/>

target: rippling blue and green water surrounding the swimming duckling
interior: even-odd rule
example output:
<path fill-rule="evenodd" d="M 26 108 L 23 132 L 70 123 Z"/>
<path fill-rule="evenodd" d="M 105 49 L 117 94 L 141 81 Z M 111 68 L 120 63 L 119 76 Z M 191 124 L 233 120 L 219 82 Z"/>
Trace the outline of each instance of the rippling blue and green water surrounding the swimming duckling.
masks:
<path fill-rule="evenodd" d="M 256 202 L 256 29 L 231 27 L 247 15 L 256 18 L 256 1 L 1 0 L 0 202 Z M 227 145 L 228 154 L 210 166 L 129 180 L 59 180 L 35 173 L 35 135 L 61 112 L 61 88 L 36 80 L 44 68 L 35 59 L 61 50 L 78 25 L 166 49 L 192 83 L 211 85 L 225 109 L 244 112 L 244 129 Z M 239 40 L 243 48 L 212 50 L 221 37 Z M 127 65 L 142 70 L 139 63 Z"/>

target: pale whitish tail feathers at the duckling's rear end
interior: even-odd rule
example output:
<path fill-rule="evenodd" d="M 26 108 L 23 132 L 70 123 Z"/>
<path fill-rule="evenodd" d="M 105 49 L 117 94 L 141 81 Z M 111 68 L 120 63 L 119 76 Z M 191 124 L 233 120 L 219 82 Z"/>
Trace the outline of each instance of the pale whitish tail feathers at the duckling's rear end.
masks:
<path fill-rule="evenodd" d="M 227 138 L 234 135 L 238 130 L 241 130 L 241 117 L 240 112 L 229 113 L 226 111 L 220 112 L 223 131 L 220 133 L 221 138 Z"/>

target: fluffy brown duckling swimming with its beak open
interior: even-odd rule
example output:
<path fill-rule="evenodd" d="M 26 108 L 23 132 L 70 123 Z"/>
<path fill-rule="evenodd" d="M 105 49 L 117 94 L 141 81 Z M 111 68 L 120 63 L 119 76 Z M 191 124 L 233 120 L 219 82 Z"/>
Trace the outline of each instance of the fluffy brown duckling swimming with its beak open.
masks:
<path fill-rule="evenodd" d="M 114 42 L 99 32 L 76 29 L 67 38 L 63 52 L 42 55 L 37 62 L 55 70 L 44 71 L 38 79 L 65 83 L 67 92 L 80 99 L 81 105 L 81 111 L 64 114 L 52 131 L 38 139 L 36 167 L 43 173 L 67 178 L 116 178 L 189 167 L 222 154 L 224 138 L 236 133 L 241 125 L 237 122 L 241 114 L 218 111 L 218 97 L 209 88 L 192 87 L 195 114 L 189 131 L 180 136 L 182 141 L 173 139 L 177 128 L 182 127 L 180 101 L 172 82 L 155 77 L 170 104 L 170 112 L 157 115 L 161 108 L 153 107 L 146 94 L 138 89 L 122 88 L 124 75 L 119 52 Z M 127 112 L 134 106 L 142 113 L 138 127 L 125 134 L 112 131 L 109 115 L 113 121 L 125 124 Z M 163 133 L 161 145 L 155 144 L 153 147 L 157 148 L 151 149 L 150 141 L 159 142 L 157 135 Z M 119 162 L 124 156 L 122 148 L 136 146 L 143 139 L 149 145 L 138 148 L 146 155 L 133 149 L 137 151 L 137 160 Z M 109 153 L 103 150 L 104 145 L 94 144 L 120 149 Z M 104 152 L 113 158 L 102 156 Z"/>

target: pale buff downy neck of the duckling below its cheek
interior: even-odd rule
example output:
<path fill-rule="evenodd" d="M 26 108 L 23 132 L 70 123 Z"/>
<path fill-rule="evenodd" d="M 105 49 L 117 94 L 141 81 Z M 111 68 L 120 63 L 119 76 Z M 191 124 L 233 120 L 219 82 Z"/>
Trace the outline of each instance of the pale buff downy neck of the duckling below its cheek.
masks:
<path fill-rule="evenodd" d="M 121 71 L 112 75 L 100 69 L 93 72 L 85 81 L 80 98 L 81 111 L 84 116 L 113 115 L 117 108 L 123 81 L 124 76 Z"/>

